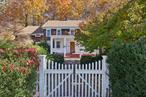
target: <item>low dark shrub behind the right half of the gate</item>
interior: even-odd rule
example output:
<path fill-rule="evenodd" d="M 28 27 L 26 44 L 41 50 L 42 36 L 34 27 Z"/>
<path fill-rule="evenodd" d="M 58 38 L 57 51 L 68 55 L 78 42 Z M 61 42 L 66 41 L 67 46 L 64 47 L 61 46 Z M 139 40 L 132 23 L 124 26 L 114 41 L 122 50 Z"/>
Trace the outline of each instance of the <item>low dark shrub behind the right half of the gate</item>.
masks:
<path fill-rule="evenodd" d="M 102 60 L 102 56 L 98 55 L 98 56 L 82 56 L 80 63 L 81 64 L 88 64 L 88 63 L 92 63 L 98 60 Z"/>

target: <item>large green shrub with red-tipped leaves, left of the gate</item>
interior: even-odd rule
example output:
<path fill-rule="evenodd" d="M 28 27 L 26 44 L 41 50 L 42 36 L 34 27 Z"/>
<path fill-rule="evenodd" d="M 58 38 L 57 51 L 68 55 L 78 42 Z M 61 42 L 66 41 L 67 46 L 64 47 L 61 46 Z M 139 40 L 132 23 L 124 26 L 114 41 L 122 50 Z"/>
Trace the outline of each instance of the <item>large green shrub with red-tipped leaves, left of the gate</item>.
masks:
<path fill-rule="evenodd" d="M 16 48 L 7 42 L 7 47 L 0 45 L 0 96 L 32 97 L 38 66 L 36 50 Z"/>

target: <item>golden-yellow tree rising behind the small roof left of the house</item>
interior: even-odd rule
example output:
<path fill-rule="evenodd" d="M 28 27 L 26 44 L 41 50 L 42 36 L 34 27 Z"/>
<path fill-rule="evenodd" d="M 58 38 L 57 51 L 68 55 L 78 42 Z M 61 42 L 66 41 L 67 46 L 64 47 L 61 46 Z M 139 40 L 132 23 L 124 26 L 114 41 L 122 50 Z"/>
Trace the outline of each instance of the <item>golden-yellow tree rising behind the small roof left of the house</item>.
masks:
<path fill-rule="evenodd" d="M 32 25 L 40 25 L 43 23 L 43 16 L 47 10 L 45 0 L 24 0 L 23 15 L 25 17 L 25 25 L 31 20 Z"/>

